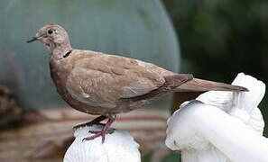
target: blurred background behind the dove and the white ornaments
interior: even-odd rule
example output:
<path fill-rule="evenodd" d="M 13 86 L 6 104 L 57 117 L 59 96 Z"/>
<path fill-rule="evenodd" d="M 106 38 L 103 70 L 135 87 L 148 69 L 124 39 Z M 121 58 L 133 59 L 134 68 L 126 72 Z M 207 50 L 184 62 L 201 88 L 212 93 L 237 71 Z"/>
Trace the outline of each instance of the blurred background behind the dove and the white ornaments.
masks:
<path fill-rule="evenodd" d="M 219 82 L 230 83 L 239 72 L 268 80 L 266 0 L 1 0 L 0 21 L 0 161 L 60 161 L 72 141 L 71 127 L 91 118 L 69 109 L 56 93 L 42 43 L 25 43 L 48 23 L 69 31 L 77 49 L 138 58 Z M 141 143 L 143 161 L 178 161 L 159 141 L 171 109 L 194 96 L 165 96 L 149 109 L 122 115 L 115 127 Z M 264 121 L 267 102 L 265 96 L 260 105 Z M 154 133 L 141 116 L 154 124 Z M 52 136 L 54 130 L 60 135 Z M 28 148 L 19 147 L 25 142 Z"/>

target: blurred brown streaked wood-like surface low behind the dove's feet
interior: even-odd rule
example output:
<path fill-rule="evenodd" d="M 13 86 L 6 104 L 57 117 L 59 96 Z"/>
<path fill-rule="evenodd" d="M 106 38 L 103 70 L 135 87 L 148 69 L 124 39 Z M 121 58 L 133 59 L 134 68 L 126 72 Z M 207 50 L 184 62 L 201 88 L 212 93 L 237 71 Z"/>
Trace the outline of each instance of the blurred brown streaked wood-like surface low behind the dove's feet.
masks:
<path fill-rule="evenodd" d="M 0 130 L 0 161 L 47 162 L 62 161 L 73 140 L 72 127 L 96 116 L 70 108 L 26 112 L 23 126 Z M 141 145 L 141 151 L 154 149 L 156 156 L 165 155 L 164 145 L 168 110 L 136 110 L 120 114 L 113 124 L 118 130 L 128 130 Z M 41 119 L 39 121 L 39 119 Z M 158 160 L 157 160 L 158 159 Z M 156 157 L 155 161 L 159 161 Z"/>

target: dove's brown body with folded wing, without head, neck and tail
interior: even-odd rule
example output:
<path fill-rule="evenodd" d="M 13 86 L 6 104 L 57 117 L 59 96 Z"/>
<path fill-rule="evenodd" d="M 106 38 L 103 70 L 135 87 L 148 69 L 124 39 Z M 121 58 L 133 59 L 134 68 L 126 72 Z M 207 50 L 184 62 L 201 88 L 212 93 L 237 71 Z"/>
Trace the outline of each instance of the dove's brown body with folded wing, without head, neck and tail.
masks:
<path fill-rule="evenodd" d="M 79 49 L 64 60 L 51 59 L 51 77 L 73 108 L 103 115 L 128 112 L 192 79 L 133 58 Z"/>

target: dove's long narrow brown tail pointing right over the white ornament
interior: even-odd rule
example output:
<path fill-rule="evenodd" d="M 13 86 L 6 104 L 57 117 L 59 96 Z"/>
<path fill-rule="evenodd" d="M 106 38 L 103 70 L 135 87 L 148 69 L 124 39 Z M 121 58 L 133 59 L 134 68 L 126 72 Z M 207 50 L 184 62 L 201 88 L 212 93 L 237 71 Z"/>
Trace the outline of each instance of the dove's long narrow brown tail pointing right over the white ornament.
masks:
<path fill-rule="evenodd" d="M 228 85 L 198 78 L 193 78 L 188 82 L 178 86 L 177 92 L 203 92 L 203 91 L 231 91 L 231 92 L 245 92 L 248 91 L 243 86 Z"/>

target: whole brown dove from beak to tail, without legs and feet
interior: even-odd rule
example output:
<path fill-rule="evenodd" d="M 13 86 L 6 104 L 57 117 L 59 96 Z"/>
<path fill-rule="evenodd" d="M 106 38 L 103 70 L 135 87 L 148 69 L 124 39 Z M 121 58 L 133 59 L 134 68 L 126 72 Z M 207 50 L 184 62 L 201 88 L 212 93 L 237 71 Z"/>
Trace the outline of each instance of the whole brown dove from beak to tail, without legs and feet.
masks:
<path fill-rule="evenodd" d="M 41 40 L 50 51 L 51 77 L 61 97 L 81 112 L 111 115 L 129 112 L 170 91 L 246 91 L 176 74 L 134 58 L 72 49 L 59 25 L 42 27 L 29 40 Z"/>

